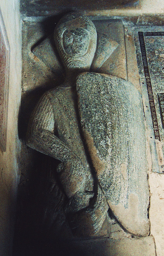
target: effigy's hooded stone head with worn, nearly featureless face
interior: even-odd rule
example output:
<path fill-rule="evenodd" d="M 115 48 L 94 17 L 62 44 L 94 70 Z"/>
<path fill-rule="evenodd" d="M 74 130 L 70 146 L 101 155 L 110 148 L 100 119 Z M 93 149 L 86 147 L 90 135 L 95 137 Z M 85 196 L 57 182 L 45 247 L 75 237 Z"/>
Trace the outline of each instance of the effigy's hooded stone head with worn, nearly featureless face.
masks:
<path fill-rule="evenodd" d="M 58 22 L 54 40 L 66 70 L 88 70 L 97 44 L 96 28 L 78 12 L 66 14 Z"/>

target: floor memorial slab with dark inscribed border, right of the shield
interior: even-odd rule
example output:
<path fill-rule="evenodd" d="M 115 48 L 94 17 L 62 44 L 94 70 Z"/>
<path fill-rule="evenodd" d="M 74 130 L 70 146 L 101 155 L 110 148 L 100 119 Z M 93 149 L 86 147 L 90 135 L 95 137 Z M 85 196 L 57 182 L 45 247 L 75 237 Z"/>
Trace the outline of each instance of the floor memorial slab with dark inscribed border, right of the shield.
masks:
<path fill-rule="evenodd" d="M 162 28 L 158 28 L 158 30 Z M 142 30 L 142 29 L 141 29 Z M 152 31 L 151 31 L 152 30 Z M 148 138 L 152 155 L 152 171 L 164 172 L 164 32 L 139 31 L 142 64 L 139 72 L 144 99 L 144 112 L 148 125 Z M 143 79 L 144 78 L 144 79 Z"/>

